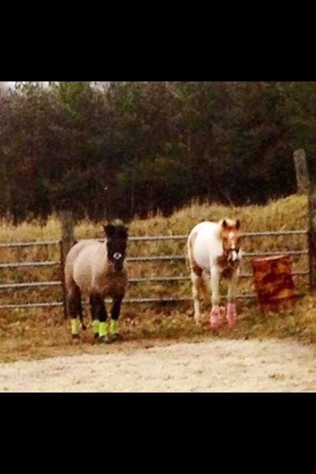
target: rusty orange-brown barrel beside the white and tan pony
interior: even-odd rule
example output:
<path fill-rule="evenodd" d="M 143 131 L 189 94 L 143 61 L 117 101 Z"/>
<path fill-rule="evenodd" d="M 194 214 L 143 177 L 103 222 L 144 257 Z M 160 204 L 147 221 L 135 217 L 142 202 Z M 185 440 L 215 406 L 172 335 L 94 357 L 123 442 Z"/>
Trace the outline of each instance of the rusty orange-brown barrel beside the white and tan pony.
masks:
<path fill-rule="evenodd" d="M 277 311 L 289 307 L 297 294 L 289 255 L 252 260 L 252 270 L 258 302 L 263 310 Z"/>

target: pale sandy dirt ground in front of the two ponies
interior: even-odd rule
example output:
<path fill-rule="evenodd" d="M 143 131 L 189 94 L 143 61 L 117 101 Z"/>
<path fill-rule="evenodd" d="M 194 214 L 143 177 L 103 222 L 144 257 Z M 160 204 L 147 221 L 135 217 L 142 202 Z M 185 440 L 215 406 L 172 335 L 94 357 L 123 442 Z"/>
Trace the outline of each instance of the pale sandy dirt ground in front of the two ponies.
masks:
<path fill-rule="evenodd" d="M 123 344 L 0 364 L 0 392 L 315 392 L 316 348 L 280 340 Z"/>

